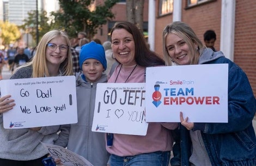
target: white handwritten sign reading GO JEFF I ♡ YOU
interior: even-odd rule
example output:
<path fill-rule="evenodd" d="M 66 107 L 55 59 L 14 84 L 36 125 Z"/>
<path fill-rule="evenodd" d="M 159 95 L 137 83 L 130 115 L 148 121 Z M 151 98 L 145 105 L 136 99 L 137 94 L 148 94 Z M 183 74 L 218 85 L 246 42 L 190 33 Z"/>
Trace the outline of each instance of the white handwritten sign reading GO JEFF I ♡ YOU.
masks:
<path fill-rule="evenodd" d="M 145 83 L 98 83 L 92 131 L 145 136 Z"/>

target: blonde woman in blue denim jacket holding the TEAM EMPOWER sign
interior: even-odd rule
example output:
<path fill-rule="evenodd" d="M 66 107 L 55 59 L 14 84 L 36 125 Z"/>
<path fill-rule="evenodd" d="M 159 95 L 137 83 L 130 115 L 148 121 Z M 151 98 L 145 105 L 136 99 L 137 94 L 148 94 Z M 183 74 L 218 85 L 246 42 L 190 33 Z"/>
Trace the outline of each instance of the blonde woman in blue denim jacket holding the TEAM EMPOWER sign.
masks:
<path fill-rule="evenodd" d="M 256 137 L 252 125 L 256 101 L 245 72 L 221 51 L 206 48 L 184 22 L 168 24 L 163 29 L 162 40 L 168 66 L 172 63 L 228 64 L 228 122 L 188 122 L 189 117 L 183 117 L 181 112 L 170 164 L 256 165 Z"/>

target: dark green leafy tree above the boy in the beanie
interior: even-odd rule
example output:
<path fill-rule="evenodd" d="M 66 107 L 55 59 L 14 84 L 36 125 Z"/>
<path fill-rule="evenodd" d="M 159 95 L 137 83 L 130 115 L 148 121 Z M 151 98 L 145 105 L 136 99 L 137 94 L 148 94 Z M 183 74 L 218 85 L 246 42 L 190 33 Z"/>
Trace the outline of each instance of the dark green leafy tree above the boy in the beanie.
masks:
<path fill-rule="evenodd" d="M 118 0 L 106 0 L 102 4 L 95 5 L 94 0 L 59 0 L 62 11 L 52 13 L 54 21 L 62 25 L 70 36 L 76 36 L 78 32 L 86 32 L 89 39 L 97 33 L 97 28 L 113 19 L 111 9 Z"/>

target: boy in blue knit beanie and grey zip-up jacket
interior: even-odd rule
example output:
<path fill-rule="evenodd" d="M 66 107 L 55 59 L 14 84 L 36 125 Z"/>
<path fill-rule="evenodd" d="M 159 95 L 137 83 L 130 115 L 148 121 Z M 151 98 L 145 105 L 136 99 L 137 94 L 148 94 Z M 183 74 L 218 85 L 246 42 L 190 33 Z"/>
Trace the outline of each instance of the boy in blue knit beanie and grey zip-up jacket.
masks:
<path fill-rule="evenodd" d="M 60 132 L 55 144 L 66 146 L 93 165 L 106 166 L 109 153 L 106 151 L 105 133 L 92 132 L 96 85 L 106 83 L 107 60 L 102 45 L 92 41 L 83 45 L 79 65 L 82 70 L 76 79 L 77 124 L 71 124 L 69 134 Z M 58 161 L 57 161 L 58 162 Z"/>

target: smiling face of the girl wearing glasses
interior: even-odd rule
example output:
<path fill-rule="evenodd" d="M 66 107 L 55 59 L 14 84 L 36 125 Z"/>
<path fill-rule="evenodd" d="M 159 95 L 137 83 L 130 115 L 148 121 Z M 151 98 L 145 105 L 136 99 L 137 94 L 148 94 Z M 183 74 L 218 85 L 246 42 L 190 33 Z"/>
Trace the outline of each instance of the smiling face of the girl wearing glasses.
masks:
<path fill-rule="evenodd" d="M 68 45 L 63 36 L 53 38 L 48 43 L 53 43 L 58 46 Z M 67 56 L 68 56 L 68 51 L 62 52 L 59 50 L 59 47 L 57 47 L 56 50 L 52 51 L 50 50 L 50 48 L 46 46 L 46 64 L 48 67 L 50 66 L 59 67 L 60 64 L 64 62 L 65 58 L 67 58 Z"/>

